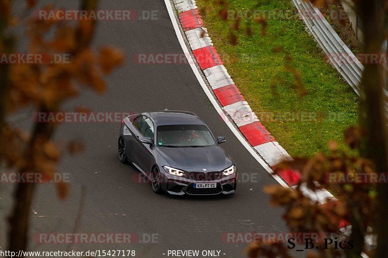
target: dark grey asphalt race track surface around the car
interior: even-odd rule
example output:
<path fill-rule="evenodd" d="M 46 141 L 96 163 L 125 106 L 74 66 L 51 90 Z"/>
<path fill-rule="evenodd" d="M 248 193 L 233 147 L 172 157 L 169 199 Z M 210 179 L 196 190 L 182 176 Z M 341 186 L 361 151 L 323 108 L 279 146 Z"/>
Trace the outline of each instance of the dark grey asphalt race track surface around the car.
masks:
<path fill-rule="evenodd" d="M 45 2 L 49 1 L 40 1 L 40 5 Z M 78 8 L 78 1 L 56 4 L 66 9 Z M 167 257 L 168 250 L 221 250 L 221 257 L 235 258 L 244 256 L 247 243 L 224 243 L 222 236 L 226 232 L 286 232 L 282 210 L 271 207 L 268 196 L 261 191 L 264 185 L 277 182 L 218 116 L 190 66 L 132 61 L 138 53 L 182 53 L 164 1 L 105 0 L 99 9 L 156 11 L 157 19 L 98 22 L 94 48 L 119 47 L 126 54 L 126 64 L 107 78 L 109 89 L 104 95 L 84 91 L 64 110 L 83 105 L 95 112 L 143 112 L 166 107 L 195 112 L 215 136 L 226 137 L 222 147 L 237 163 L 240 173 L 237 193 L 233 197 L 156 195 L 149 183 L 134 180 L 140 173 L 135 167 L 118 161 L 119 122 L 64 123 L 55 138 L 80 138 L 86 150 L 77 156 L 65 154 L 60 164 L 59 171 L 69 173 L 71 184 L 65 201 L 58 200 L 53 184 L 38 186 L 31 211 L 30 250 L 130 249 L 136 251 L 136 257 L 150 258 Z M 12 189 L 13 185 L 0 185 L 0 228 L 6 227 Z M 131 232 L 146 243 L 42 244 L 34 240 L 41 232 Z M 148 236 L 152 234 L 155 243 L 149 243 Z M 2 249 L 6 249 L 5 241 L 6 230 L 1 230 Z"/>

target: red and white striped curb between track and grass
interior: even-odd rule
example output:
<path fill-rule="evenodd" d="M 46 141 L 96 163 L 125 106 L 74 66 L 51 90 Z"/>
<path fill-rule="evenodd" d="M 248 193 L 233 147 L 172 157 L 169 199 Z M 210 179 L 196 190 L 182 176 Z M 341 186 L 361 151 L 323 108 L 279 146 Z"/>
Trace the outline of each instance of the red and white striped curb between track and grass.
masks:
<path fill-rule="evenodd" d="M 175 26 L 174 21 L 176 19 L 173 15 L 173 10 L 169 10 L 171 4 L 169 0 L 165 0 L 165 2 L 173 25 Z M 178 12 L 181 29 L 189 45 L 187 47 L 192 50 L 200 70 L 208 80 L 222 109 L 236 124 L 240 133 L 245 137 L 244 140 L 249 142 L 261 159 L 271 168 L 275 168 L 281 161 L 291 160 L 291 156 L 259 121 L 259 118 L 252 111 L 233 79 L 228 74 L 221 57 L 217 54 L 217 50 L 211 42 L 207 29 L 203 27 L 204 23 L 201 15 L 198 13 L 195 0 L 172 0 L 172 3 Z M 177 28 L 175 29 L 179 39 L 178 33 L 180 34 L 180 31 Z M 182 42 L 180 43 L 182 45 Z M 208 97 L 210 98 L 209 95 Z M 277 175 L 274 175 L 274 178 L 279 182 L 278 177 L 281 178 L 282 182 L 280 183 L 283 186 L 295 188 L 301 175 L 298 171 L 288 169 L 277 171 Z M 333 205 L 339 202 L 326 189 L 320 189 L 314 192 L 309 190 L 304 184 L 301 185 L 300 189 L 306 196 L 322 205 L 323 208 L 327 207 L 328 212 Z M 347 226 L 349 226 L 349 223 L 346 221 L 339 223 L 339 228 L 341 229 Z"/>

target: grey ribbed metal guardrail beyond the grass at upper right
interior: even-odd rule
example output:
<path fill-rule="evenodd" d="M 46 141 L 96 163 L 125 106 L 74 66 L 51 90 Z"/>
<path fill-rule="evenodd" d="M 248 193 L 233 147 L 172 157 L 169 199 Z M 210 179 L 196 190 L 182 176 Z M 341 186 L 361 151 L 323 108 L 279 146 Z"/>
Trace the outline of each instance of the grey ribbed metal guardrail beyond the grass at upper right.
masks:
<path fill-rule="evenodd" d="M 339 38 L 318 8 L 304 0 L 292 0 L 292 2 L 328 60 L 359 96 L 359 84 L 364 66 Z"/>

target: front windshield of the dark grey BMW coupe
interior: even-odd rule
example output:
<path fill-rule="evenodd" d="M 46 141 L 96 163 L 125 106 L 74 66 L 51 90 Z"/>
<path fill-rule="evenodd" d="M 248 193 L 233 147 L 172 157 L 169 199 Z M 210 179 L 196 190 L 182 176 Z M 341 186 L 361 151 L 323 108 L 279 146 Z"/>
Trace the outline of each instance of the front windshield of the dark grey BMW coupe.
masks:
<path fill-rule="evenodd" d="M 157 142 L 161 147 L 208 147 L 216 144 L 205 125 L 161 125 L 157 131 Z"/>

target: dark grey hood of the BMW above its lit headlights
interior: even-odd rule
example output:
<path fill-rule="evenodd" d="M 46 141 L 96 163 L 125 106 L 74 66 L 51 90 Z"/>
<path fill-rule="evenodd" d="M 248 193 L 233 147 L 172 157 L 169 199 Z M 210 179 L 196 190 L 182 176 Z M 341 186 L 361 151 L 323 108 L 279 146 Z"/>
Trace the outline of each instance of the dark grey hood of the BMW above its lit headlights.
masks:
<path fill-rule="evenodd" d="M 189 172 L 202 171 L 203 168 L 208 171 L 221 171 L 232 166 L 232 161 L 219 146 L 199 148 L 158 147 L 157 151 L 171 167 Z"/>

